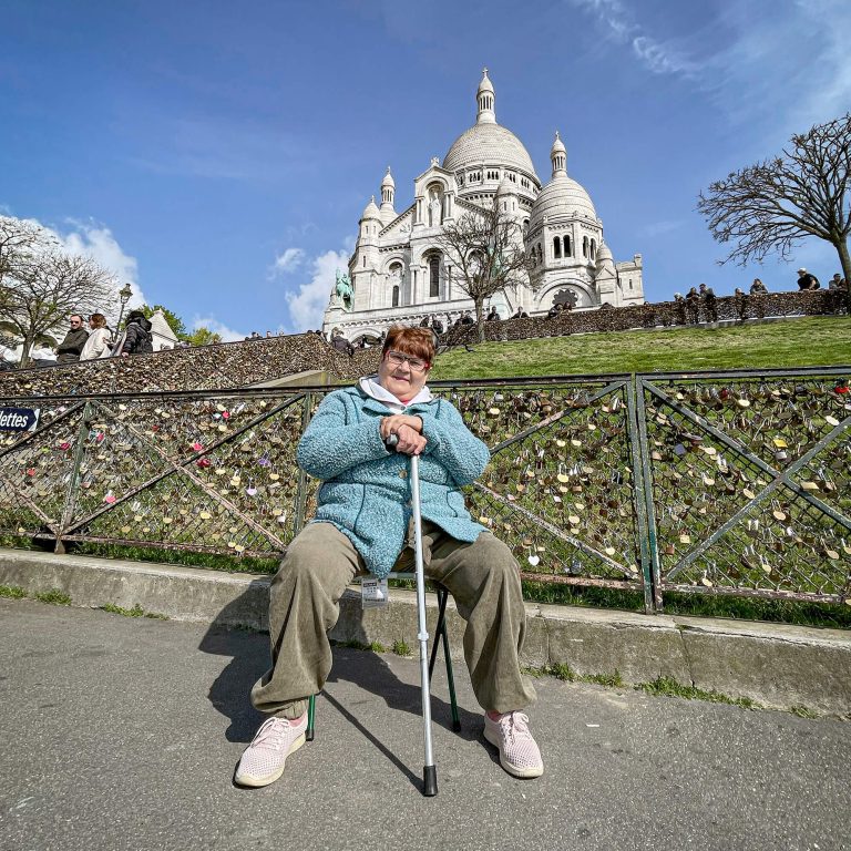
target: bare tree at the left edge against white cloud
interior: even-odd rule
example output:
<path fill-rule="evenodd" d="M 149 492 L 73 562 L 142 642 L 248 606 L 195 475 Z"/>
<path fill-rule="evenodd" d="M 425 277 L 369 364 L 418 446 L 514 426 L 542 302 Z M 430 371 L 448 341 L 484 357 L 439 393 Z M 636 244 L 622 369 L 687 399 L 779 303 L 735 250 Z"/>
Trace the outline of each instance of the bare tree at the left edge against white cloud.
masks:
<path fill-rule="evenodd" d="M 53 342 L 70 314 L 105 312 L 115 301 L 114 276 L 90 257 L 63 254 L 43 228 L 0 217 L 0 328 L 22 342 L 20 366 L 33 346 Z"/>

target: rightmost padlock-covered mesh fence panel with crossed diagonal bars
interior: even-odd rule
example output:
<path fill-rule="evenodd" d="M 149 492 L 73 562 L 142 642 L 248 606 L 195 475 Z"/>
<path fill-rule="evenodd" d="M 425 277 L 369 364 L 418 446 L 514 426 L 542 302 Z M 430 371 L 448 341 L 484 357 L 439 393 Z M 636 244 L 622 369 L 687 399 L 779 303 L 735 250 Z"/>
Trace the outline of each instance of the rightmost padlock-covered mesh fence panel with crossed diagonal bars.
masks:
<path fill-rule="evenodd" d="M 849 601 L 844 377 L 639 383 L 657 603 L 666 589 Z"/>

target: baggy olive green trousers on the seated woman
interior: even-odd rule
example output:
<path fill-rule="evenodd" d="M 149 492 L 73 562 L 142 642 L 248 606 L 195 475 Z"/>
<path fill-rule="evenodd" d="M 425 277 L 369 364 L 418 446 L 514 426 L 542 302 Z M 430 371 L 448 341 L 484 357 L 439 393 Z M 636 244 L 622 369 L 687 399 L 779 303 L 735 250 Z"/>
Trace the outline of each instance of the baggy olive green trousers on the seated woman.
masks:
<path fill-rule="evenodd" d="M 412 565 L 412 526 L 397 570 Z M 423 521 L 426 575 L 452 594 L 466 621 L 464 658 L 483 709 L 523 709 L 535 691 L 520 670 L 526 629 L 520 568 L 505 544 L 490 532 L 473 543 L 458 541 Z M 300 718 L 310 695 L 321 691 L 331 670 L 328 632 L 340 614 L 339 601 L 363 560 L 351 541 L 330 523 L 309 523 L 287 548 L 269 588 L 271 668 L 252 689 L 262 712 Z"/>

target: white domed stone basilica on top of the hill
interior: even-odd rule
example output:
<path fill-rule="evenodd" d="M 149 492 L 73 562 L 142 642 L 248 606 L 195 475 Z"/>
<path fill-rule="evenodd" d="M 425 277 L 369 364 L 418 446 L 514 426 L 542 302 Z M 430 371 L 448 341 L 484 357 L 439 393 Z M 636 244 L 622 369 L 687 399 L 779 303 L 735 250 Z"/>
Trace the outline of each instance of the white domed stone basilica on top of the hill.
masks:
<path fill-rule="evenodd" d="M 413 184 L 413 203 L 396 209 L 390 168 L 360 218 L 348 279 L 338 273 L 322 330 L 339 328 L 356 342 L 380 337 L 393 322 L 418 325 L 424 316 L 455 320 L 473 310 L 438 243 L 441 228 L 469 212 L 499 203 L 516 216 L 533 258 L 530 281 L 493 296 L 486 307 L 506 319 L 519 307 L 545 315 L 553 304 L 595 309 L 644 301 L 642 256 L 615 263 L 603 238 L 588 193 L 566 170 L 564 143 L 555 134 L 552 177 L 542 186 L 523 143 L 496 123 L 493 84 L 485 69 L 476 92 L 475 124 L 464 131 L 441 163 L 438 157 Z"/>

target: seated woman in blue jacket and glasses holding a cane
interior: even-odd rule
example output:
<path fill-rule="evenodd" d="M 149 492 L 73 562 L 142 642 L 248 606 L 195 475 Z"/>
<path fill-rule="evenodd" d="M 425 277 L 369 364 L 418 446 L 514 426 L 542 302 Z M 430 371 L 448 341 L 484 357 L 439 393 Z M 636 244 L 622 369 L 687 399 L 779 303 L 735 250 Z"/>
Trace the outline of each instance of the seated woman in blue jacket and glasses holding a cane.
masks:
<path fill-rule="evenodd" d="M 535 699 L 519 653 L 525 634 L 520 568 L 511 551 L 473 522 L 460 486 L 490 454 L 459 412 L 426 387 L 434 359 L 428 328 L 390 329 L 377 376 L 329 393 L 298 445 L 298 463 L 322 480 L 314 520 L 287 548 L 270 588 L 273 667 L 252 689 L 268 718 L 235 780 L 259 787 L 284 773 L 305 741 L 307 703 L 331 669 L 327 632 L 356 574 L 387 576 L 413 546 L 407 455 L 420 455 L 426 574 L 442 583 L 466 621 L 464 658 L 484 712 L 484 737 L 515 777 L 543 773 L 521 711 Z M 390 450 L 386 441 L 396 434 Z"/>

